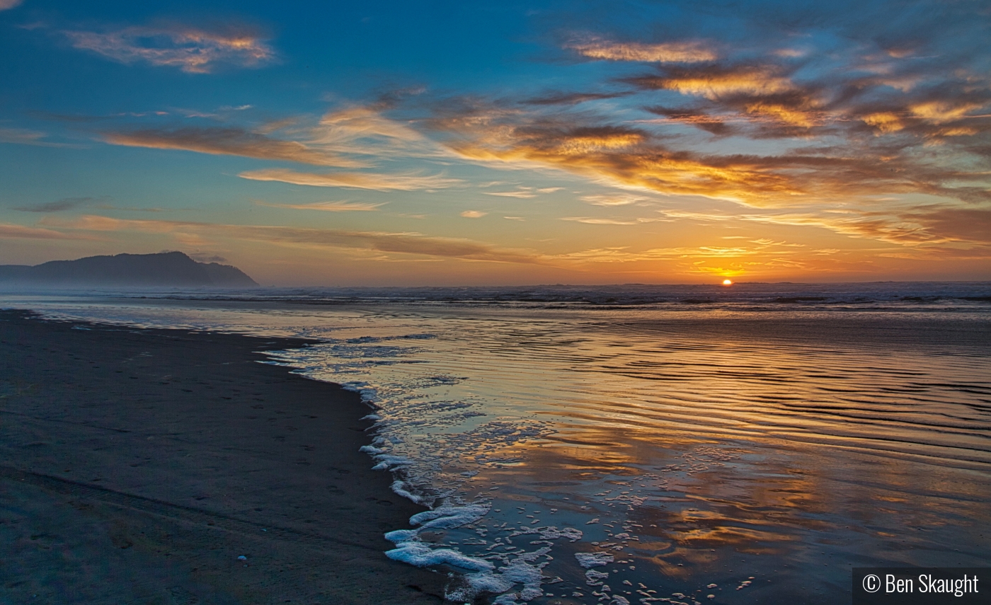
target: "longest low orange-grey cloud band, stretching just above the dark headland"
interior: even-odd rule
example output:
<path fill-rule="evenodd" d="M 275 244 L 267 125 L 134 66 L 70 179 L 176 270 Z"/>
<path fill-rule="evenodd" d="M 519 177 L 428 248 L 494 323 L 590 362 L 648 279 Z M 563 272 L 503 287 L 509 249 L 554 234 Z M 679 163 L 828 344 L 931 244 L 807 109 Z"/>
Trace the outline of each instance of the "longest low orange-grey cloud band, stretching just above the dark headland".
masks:
<path fill-rule="evenodd" d="M 541 263 L 542 258 L 531 252 L 500 249 L 487 244 L 455 238 L 428 237 L 415 233 L 362 232 L 338 229 L 304 229 L 258 225 L 224 225 L 182 221 L 142 221 L 114 219 L 103 216 L 83 216 L 73 220 L 47 217 L 51 227 L 94 232 L 141 232 L 167 234 L 180 242 L 195 241 L 202 245 L 206 239 L 230 238 L 267 242 L 281 246 L 359 249 L 400 254 L 418 254 L 467 260 L 493 262 Z M 2 233 L 2 232 L 0 232 Z M 53 232 L 59 233 L 59 232 Z M 192 238 L 192 239 L 190 239 Z"/>

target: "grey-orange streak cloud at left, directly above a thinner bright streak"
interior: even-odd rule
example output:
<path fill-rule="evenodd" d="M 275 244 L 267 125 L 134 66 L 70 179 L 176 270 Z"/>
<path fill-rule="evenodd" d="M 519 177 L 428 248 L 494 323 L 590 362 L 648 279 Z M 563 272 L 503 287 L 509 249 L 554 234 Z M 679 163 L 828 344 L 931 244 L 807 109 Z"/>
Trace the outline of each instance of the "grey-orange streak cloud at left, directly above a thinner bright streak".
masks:
<path fill-rule="evenodd" d="M 342 168 L 369 166 L 367 161 L 345 157 L 332 151 L 314 149 L 296 141 L 282 141 L 236 127 L 149 128 L 104 132 L 102 137 L 106 143 L 126 147 L 241 155 Z"/>

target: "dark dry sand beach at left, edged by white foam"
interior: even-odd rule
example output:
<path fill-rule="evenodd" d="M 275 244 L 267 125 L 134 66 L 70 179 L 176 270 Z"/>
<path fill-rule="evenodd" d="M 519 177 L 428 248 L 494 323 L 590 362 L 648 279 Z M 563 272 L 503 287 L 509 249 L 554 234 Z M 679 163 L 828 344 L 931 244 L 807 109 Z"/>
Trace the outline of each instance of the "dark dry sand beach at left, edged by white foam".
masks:
<path fill-rule="evenodd" d="M 0 311 L 0 603 L 442 602 L 368 408 L 256 362 L 302 344 Z"/>

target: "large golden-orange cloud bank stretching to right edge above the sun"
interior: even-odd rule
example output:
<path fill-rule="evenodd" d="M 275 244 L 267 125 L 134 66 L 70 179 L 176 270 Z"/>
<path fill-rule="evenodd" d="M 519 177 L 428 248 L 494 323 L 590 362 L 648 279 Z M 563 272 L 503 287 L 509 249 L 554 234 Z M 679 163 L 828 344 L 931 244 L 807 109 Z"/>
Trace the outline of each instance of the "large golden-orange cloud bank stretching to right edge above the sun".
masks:
<path fill-rule="evenodd" d="M 769 68 L 747 69 L 743 73 L 772 72 Z M 716 79 L 720 74 L 740 73 L 736 68 L 710 66 L 689 71 Z M 671 77 L 684 80 L 689 71 L 679 68 L 678 74 Z M 645 88 L 652 89 L 651 86 Z M 843 144 L 781 147 L 778 153 L 769 154 L 694 151 L 690 141 L 648 130 L 650 121 L 637 121 L 635 127 L 596 125 L 597 118 L 588 113 L 524 112 L 497 104 L 486 107 L 477 100 L 462 105 L 461 115 L 445 108 L 442 118 L 429 125 L 443 133 L 450 149 L 467 159 L 520 168 L 556 167 L 624 189 L 705 196 L 751 207 L 808 207 L 869 195 L 911 193 L 973 203 L 991 201 L 987 172 L 977 164 L 955 161 L 949 153 L 942 157 L 940 152 L 906 152 L 905 146 L 875 150 L 871 141 L 860 135 L 869 126 L 867 123 L 894 128 L 891 120 L 878 116 L 884 112 L 864 112 L 863 119 L 853 120 L 849 114 L 855 113 L 845 108 L 815 109 L 820 94 L 818 88 L 810 87 L 787 94 L 746 94 L 711 103 L 723 114 L 736 112 L 746 116 L 745 120 L 752 120 L 750 114 L 760 116 L 760 120 L 753 121 L 757 130 L 738 129 L 735 133 L 751 139 L 789 133 L 788 136 L 807 140 L 821 134 L 849 137 Z M 647 110 L 678 115 L 678 119 L 682 114 L 689 119 L 704 115 L 691 108 Z M 773 124 L 768 127 L 764 122 Z M 820 127 L 821 123 L 828 125 Z M 951 125 L 940 127 L 938 133 L 962 138 L 964 131 L 954 129 L 963 128 L 980 130 L 976 125 Z M 932 129 L 921 131 L 920 142 L 938 133 Z M 981 152 L 984 148 L 974 149 Z"/>

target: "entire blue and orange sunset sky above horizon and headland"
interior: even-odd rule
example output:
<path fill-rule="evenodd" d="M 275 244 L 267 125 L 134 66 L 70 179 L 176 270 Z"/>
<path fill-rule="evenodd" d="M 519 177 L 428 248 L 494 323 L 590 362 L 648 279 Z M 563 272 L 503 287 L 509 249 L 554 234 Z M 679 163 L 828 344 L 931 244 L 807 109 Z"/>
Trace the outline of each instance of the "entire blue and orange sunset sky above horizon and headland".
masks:
<path fill-rule="evenodd" d="M 991 4 L 0 0 L 0 264 L 991 279 Z"/>

